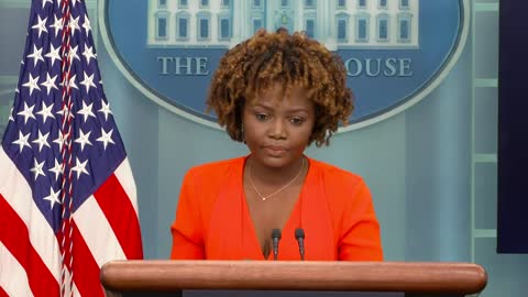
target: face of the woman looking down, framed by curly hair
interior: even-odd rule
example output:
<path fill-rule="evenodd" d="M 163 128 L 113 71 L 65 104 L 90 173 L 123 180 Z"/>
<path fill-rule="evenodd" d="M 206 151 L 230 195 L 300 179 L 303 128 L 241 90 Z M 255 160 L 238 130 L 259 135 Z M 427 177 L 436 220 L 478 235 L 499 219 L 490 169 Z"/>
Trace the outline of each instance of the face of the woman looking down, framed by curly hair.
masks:
<path fill-rule="evenodd" d="M 315 107 L 304 88 L 284 97 L 280 84 L 272 85 L 243 109 L 244 136 L 253 162 L 280 168 L 302 155 L 315 123 Z"/>

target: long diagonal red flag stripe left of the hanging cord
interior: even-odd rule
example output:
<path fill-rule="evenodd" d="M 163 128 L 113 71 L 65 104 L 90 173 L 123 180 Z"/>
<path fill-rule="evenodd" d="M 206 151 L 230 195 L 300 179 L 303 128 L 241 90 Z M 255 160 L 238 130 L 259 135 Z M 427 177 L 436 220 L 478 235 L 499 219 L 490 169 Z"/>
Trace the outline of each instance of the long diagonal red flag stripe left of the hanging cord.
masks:
<path fill-rule="evenodd" d="M 0 240 L 28 274 L 34 296 L 58 296 L 58 283 L 31 245 L 28 227 L 0 194 Z"/>

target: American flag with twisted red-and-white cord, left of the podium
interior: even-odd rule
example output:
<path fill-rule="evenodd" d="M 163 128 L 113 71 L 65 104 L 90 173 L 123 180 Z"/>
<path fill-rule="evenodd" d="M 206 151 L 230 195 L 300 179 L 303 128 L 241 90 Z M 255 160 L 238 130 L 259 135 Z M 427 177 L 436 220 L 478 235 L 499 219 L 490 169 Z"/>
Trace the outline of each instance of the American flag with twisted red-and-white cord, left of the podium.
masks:
<path fill-rule="evenodd" d="M 33 0 L 0 147 L 0 296 L 103 296 L 142 258 L 135 184 L 80 0 Z"/>

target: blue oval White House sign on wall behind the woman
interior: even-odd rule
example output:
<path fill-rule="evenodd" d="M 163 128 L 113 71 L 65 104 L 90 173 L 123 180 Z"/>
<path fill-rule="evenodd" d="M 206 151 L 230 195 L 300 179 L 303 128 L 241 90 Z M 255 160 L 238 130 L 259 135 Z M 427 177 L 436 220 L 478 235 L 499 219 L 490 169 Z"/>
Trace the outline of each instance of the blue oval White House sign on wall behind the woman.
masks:
<path fill-rule="evenodd" d="M 103 42 L 147 98 L 197 122 L 221 56 L 265 28 L 305 31 L 343 59 L 356 109 L 345 130 L 413 106 L 455 63 L 468 0 L 105 0 Z M 127 8 L 127 9 L 124 9 Z"/>

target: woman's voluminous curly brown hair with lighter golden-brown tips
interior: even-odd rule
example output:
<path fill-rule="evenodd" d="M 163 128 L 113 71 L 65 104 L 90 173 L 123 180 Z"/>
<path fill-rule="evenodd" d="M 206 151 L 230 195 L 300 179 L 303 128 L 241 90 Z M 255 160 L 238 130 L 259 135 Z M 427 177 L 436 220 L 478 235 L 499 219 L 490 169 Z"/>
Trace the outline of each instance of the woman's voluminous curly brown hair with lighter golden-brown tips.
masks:
<path fill-rule="evenodd" d="M 341 58 L 304 33 L 289 34 L 285 29 L 275 33 L 261 29 L 222 57 L 211 80 L 207 111 L 215 110 L 231 139 L 242 142 L 246 99 L 254 100 L 277 81 L 284 92 L 292 86 L 305 88 L 315 105 L 308 144 L 328 145 L 339 124 L 348 124 L 354 106 Z"/>

